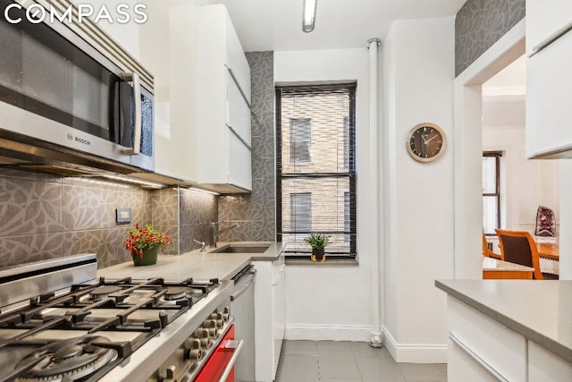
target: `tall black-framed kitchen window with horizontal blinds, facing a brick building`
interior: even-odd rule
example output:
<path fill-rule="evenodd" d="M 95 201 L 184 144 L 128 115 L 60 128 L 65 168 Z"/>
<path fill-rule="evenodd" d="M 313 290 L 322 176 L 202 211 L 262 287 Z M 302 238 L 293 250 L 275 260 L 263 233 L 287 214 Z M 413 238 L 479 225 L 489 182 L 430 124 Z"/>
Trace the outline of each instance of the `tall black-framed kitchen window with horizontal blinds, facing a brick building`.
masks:
<path fill-rule="evenodd" d="M 276 87 L 277 237 L 309 257 L 309 233 L 331 235 L 329 258 L 356 256 L 356 84 Z"/>

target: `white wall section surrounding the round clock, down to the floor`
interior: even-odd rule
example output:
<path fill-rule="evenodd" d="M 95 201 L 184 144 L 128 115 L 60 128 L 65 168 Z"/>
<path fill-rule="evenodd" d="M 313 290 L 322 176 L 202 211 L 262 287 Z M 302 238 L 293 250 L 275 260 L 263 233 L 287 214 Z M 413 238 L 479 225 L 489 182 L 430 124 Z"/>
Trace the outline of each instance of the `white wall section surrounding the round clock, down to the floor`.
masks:
<path fill-rule="evenodd" d="M 453 277 L 452 83 L 454 19 L 397 21 L 383 42 L 385 342 L 397 361 L 446 361 L 446 299 Z M 422 164 L 405 140 L 417 123 L 440 125 L 449 147 Z"/>

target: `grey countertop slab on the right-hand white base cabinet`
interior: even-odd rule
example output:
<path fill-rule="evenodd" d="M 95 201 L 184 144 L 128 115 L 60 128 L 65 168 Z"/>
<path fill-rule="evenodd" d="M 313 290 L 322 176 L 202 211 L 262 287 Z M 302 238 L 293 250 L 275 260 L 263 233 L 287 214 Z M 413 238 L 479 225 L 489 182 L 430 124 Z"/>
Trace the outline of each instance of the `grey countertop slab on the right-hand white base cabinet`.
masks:
<path fill-rule="evenodd" d="M 436 280 L 435 285 L 572 362 L 572 281 Z"/>

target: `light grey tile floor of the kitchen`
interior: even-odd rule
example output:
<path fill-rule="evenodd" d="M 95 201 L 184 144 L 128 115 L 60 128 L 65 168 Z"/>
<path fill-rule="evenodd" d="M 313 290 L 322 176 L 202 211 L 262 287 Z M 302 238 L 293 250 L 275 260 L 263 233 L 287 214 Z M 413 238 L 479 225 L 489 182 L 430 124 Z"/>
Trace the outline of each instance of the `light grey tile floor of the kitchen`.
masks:
<path fill-rule="evenodd" d="M 445 363 L 396 363 L 383 347 L 339 341 L 284 341 L 277 382 L 445 382 Z"/>

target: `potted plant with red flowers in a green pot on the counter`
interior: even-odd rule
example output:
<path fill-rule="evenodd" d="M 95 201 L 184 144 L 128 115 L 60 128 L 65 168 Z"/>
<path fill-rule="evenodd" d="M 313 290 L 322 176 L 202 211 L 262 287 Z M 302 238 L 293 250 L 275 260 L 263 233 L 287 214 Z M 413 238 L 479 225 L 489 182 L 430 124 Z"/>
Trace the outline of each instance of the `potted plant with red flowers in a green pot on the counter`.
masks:
<path fill-rule="evenodd" d="M 127 233 L 129 234 L 123 242 L 136 266 L 156 264 L 159 250 L 163 251 L 164 247 L 171 243 L 169 236 L 156 231 L 151 225 L 139 228 L 136 224 L 135 228 L 128 230 Z"/>

